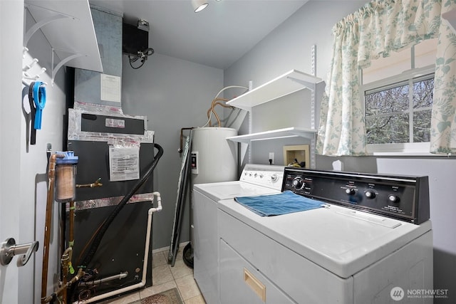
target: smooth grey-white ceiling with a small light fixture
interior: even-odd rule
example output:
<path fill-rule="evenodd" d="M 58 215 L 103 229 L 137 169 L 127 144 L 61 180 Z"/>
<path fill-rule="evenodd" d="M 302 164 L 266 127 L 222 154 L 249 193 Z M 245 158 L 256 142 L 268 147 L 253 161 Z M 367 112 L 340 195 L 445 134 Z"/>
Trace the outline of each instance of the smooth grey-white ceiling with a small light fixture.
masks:
<path fill-rule="evenodd" d="M 308 0 L 208 0 L 195 13 L 190 0 L 89 0 L 122 14 L 124 22 L 149 22 L 155 53 L 214 68 L 228 68 Z M 152 55 L 153 56 L 153 55 Z"/>

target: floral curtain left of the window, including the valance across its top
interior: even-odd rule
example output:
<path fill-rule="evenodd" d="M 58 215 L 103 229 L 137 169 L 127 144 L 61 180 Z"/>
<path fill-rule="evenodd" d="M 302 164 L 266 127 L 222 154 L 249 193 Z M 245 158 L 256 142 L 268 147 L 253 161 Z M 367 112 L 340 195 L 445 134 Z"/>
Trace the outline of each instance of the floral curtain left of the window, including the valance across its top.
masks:
<path fill-rule="evenodd" d="M 321 103 L 316 145 L 319 154 L 366 154 L 359 68 L 368 67 L 380 56 L 388 57 L 391 51 L 437 38 L 441 3 L 374 0 L 333 26 L 331 71 Z"/>

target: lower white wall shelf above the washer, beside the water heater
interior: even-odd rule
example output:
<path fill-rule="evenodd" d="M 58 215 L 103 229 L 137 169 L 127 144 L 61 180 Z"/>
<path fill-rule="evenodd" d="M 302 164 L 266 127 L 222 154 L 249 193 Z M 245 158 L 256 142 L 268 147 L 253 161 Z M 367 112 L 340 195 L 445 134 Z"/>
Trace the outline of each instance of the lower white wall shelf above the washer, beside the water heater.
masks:
<path fill-rule="evenodd" d="M 315 135 L 316 130 L 301 127 L 286 127 L 284 129 L 227 137 L 227 140 L 249 144 L 249 142 L 254 140 L 275 140 L 286 137 L 304 137 L 308 140 L 313 140 Z"/>

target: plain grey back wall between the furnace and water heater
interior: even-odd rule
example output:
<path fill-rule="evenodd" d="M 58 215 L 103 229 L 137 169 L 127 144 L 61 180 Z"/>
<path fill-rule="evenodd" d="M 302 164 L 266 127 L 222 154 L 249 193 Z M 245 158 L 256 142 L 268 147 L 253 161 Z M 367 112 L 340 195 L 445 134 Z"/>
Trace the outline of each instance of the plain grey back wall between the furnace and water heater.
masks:
<path fill-rule="evenodd" d="M 223 70 L 217 68 L 155 53 L 142 68 L 134 70 L 123 56 L 123 112 L 147 116 L 147 129 L 155 131 L 155 142 L 164 150 L 154 172 L 154 191 L 160 192 L 163 205 L 163 210 L 154 214 L 154 249 L 170 246 L 182 163 L 177 152 L 180 129 L 204 125 L 212 99 L 222 87 Z M 190 240 L 189 210 L 187 204 L 180 242 Z"/>

